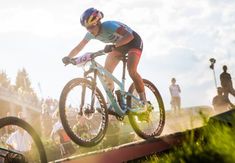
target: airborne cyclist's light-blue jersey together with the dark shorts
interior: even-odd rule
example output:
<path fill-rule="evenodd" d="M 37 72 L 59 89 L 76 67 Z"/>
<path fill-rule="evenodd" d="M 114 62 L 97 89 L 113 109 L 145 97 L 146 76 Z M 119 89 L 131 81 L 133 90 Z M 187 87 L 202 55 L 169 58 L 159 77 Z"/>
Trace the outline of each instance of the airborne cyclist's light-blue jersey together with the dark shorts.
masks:
<path fill-rule="evenodd" d="M 123 37 L 122 33 L 124 30 L 133 34 L 134 39 L 126 45 L 115 48 L 115 50 L 123 54 L 128 53 L 130 49 L 138 49 L 142 51 L 143 43 L 140 36 L 130 27 L 118 21 L 105 21 L 101 23 L 100 32 L 97 36 L 87 32 L 84 39 L 87 41 L 90 41 L 91 39 L 97 39 L 104 43 L 116 43 L 117 40 Z"/>

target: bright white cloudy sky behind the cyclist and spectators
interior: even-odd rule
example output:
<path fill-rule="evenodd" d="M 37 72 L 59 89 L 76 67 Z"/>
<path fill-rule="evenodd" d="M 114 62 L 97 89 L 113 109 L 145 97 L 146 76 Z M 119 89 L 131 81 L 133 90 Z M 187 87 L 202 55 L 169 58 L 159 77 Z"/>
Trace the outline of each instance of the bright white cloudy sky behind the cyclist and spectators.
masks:
<path fill-rule="evenodd" d="M 61 59 L 83 39 L 80 15 L 90 7 L 104 13 L 102 21 L 121 21 L 139 33 L 144 50 L 138 71 L 157 86 L 166 108 L 172 77 L 181 87 L 182 107 L 211 105 L 212 57 L 217 84 L 224 64 L 235 82 L 234 0 L 0 0 L 0 70 L 14 83 L 25 68 L 39 97 L 58 99 L 63 86 L 82 75 Z M 92 40 L 80 54 L 104 46 Z M 121 66 L 114 74 L 120 72 Z"/>

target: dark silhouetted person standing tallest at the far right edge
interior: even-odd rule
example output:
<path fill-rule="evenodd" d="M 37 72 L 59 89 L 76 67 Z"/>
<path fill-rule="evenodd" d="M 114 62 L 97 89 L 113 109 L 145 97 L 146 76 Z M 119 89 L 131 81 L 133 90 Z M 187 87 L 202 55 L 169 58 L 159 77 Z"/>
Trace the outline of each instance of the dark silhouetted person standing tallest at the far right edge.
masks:
<path fill-rule="evenodd" d="M 223 72 L 220 74 L 220 82 L 224 91 L 224 96 L 231 107 L 234 107 L 234 104 L 228 98 L 228 95 L 231 94 L 235 97 L 235 90 L 233 88 L 231 75 L 227 72 L 228 68 L 226 65 L 223 66 Z"/>

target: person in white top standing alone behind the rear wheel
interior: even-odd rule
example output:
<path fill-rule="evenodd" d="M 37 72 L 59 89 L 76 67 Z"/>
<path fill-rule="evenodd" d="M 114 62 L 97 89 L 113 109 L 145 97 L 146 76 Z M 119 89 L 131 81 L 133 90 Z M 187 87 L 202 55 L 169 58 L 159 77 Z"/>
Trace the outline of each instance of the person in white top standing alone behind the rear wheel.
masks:
<path fill-rule="evenodd" d="M 171 94 L 171 109 L 173 112 L 179 111 L 181 108 L 181 98 L 180 93 L 181 89 L 178 84 L 176 84 L 176 79 L 171 79 L 171 85 L 169 86 L 170 94 Z"/>

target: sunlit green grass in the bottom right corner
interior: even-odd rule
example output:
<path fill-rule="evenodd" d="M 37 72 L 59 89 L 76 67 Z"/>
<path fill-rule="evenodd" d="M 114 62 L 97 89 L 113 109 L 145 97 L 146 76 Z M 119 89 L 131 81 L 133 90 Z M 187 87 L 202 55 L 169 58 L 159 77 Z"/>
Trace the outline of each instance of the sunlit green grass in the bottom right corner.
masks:
<path fill-rule="evenodd" d="M 235 120 L 235 118 L 233 119 Z M 144 163 L 233 163 L 235 162 L 235 126 L 208 123 L 200 135 L 189 132 L 181 146 L 142 159 Z"/>

